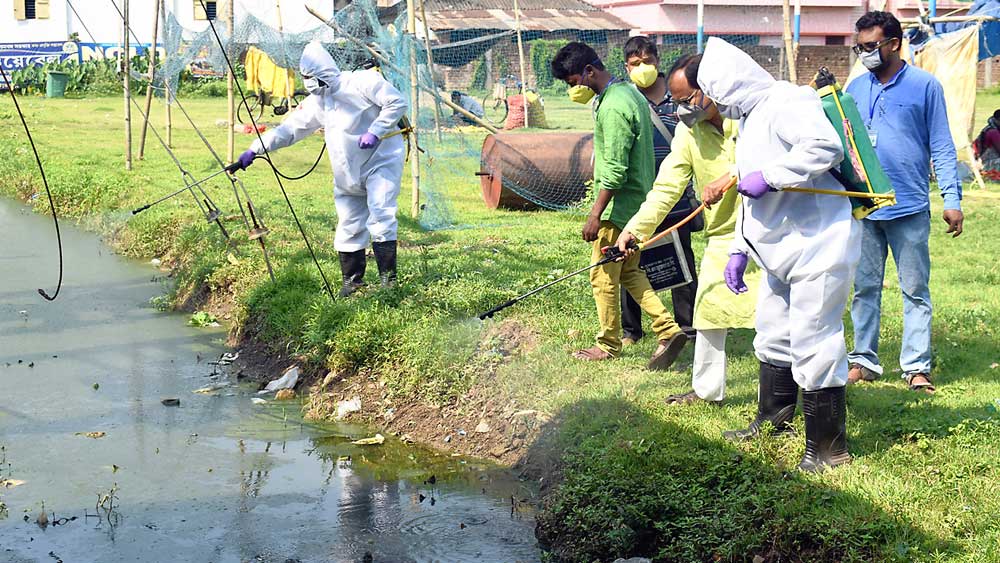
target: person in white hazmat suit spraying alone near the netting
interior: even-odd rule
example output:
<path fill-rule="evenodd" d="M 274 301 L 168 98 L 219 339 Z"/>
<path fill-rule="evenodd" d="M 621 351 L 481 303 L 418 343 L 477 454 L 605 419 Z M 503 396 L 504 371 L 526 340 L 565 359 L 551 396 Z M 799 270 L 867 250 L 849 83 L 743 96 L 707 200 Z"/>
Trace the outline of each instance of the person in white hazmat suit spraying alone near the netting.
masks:
<path fill-rule="evenodd" d="M 276 151 L 324 129 L 333 169 L 337 208 L 334 248 L 344 276 L 341 297 L 364 285 L 369 240 L 382 285 L 396 281 L 396 199 L 406 159 L 402 135 L 381 141 L 407 110 L 403 95 L 375 70 L 341 72 L 319 41 L 299 63 L 309 97 L 281 125 L 264 133 L 239 157 L 246 169 L 264 152 Z"/>

